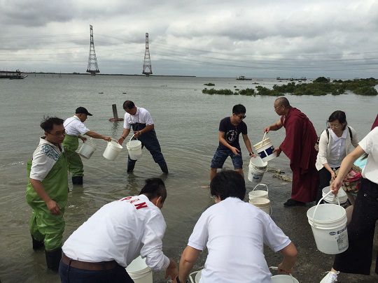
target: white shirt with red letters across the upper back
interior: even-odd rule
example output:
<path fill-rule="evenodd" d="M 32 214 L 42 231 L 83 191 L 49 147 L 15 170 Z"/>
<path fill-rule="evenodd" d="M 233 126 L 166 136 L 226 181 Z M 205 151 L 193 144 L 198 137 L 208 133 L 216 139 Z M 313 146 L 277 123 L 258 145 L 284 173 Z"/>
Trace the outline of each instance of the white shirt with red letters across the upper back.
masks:
<path fill-rule="evenodd" d="M 162 252 L 164 217 L 145 195 L 128 196 L 100 208 L 64 242 L 66 256 L 78 261 L 117 261 L 127 267 L 139 254 L 154 270 L 169 259 Z"/>

